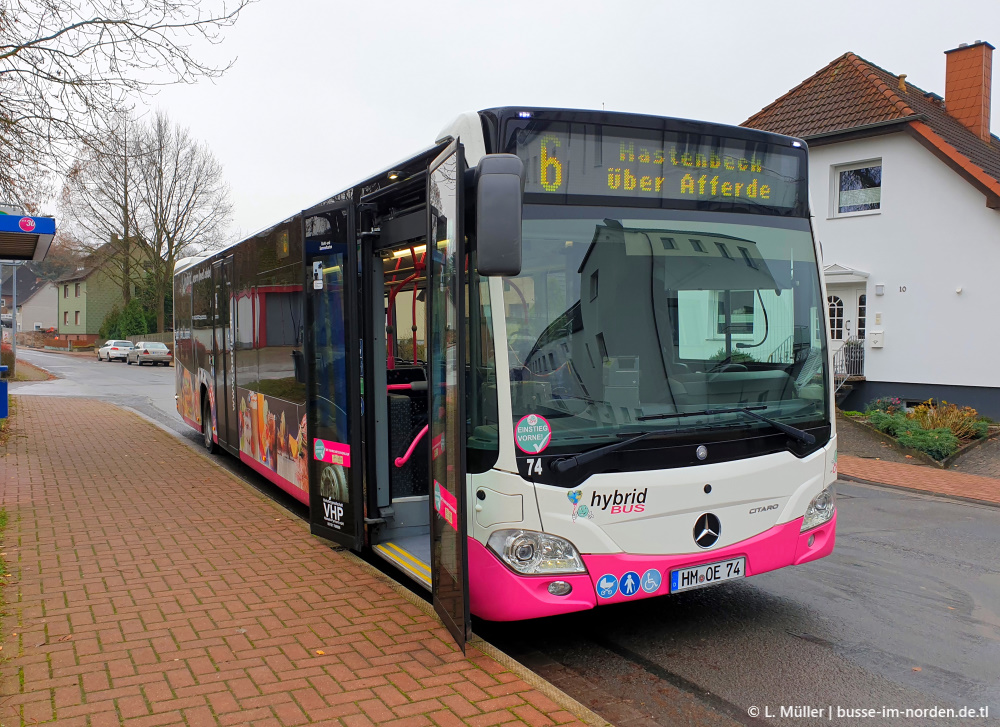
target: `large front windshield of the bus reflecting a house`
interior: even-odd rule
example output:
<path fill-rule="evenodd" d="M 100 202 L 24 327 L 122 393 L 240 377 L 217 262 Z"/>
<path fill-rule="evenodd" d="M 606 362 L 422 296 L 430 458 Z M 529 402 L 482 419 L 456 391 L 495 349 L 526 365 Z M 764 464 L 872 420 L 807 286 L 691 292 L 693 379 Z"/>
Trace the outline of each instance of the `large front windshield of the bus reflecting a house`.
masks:
<path fill-rule="evenodd" d="M 822 305 L 808 220 L 527 205 L 504 280 L 514 420 L 545 417 L 563 451 L 768 427 L 741 408 L 823 426 Z"/>

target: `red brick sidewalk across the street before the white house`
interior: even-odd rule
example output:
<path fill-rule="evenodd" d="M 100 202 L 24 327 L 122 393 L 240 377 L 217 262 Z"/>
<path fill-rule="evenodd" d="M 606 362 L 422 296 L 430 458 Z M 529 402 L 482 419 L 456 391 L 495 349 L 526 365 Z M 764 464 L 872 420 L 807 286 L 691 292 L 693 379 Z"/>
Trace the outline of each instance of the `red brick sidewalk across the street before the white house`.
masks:
<path fill-rule="evenodd" d="M 993 477 L 852 457 L 847 454 L 837 458 L 837 468 L 839 474 L 847 479 L 1000 504 L 1000 480 Z"/>

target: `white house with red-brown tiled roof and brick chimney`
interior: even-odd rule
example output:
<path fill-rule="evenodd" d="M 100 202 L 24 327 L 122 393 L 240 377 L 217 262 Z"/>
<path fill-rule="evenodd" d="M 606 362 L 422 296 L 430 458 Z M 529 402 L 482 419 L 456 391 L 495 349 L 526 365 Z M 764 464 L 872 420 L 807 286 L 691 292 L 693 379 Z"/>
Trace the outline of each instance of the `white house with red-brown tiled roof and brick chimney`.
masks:
<path fill-rule="evenodd" d="M 831 347 L 863 359 L 844 408 L 935 397 L 1000 417 L 993 50 L 947 51 L 943 98 L 845 53 L 743 123 L 809 144 Z"/>

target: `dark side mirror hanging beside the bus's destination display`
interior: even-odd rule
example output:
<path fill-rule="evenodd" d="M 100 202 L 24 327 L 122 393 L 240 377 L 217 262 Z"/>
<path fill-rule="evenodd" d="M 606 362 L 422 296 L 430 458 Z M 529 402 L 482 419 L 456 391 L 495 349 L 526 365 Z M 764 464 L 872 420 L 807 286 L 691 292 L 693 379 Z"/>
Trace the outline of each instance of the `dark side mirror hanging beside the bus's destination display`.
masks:
<path fill-rule="evenodd" d="M 487 154 L 476 167 L 476 269 L 480 275 L 521 272 L 524 164 L 513 154 Z"/>

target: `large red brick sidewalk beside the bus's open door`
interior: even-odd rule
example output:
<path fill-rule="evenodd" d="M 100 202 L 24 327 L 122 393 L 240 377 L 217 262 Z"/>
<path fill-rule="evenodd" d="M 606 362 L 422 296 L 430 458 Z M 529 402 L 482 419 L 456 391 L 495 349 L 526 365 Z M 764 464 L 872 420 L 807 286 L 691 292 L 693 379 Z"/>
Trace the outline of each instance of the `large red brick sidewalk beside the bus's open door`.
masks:
<path fill-rule="evenodd" d="M 2 725 L 581 724 L 131 413 L 21 397 L 0 475 Z"/>

